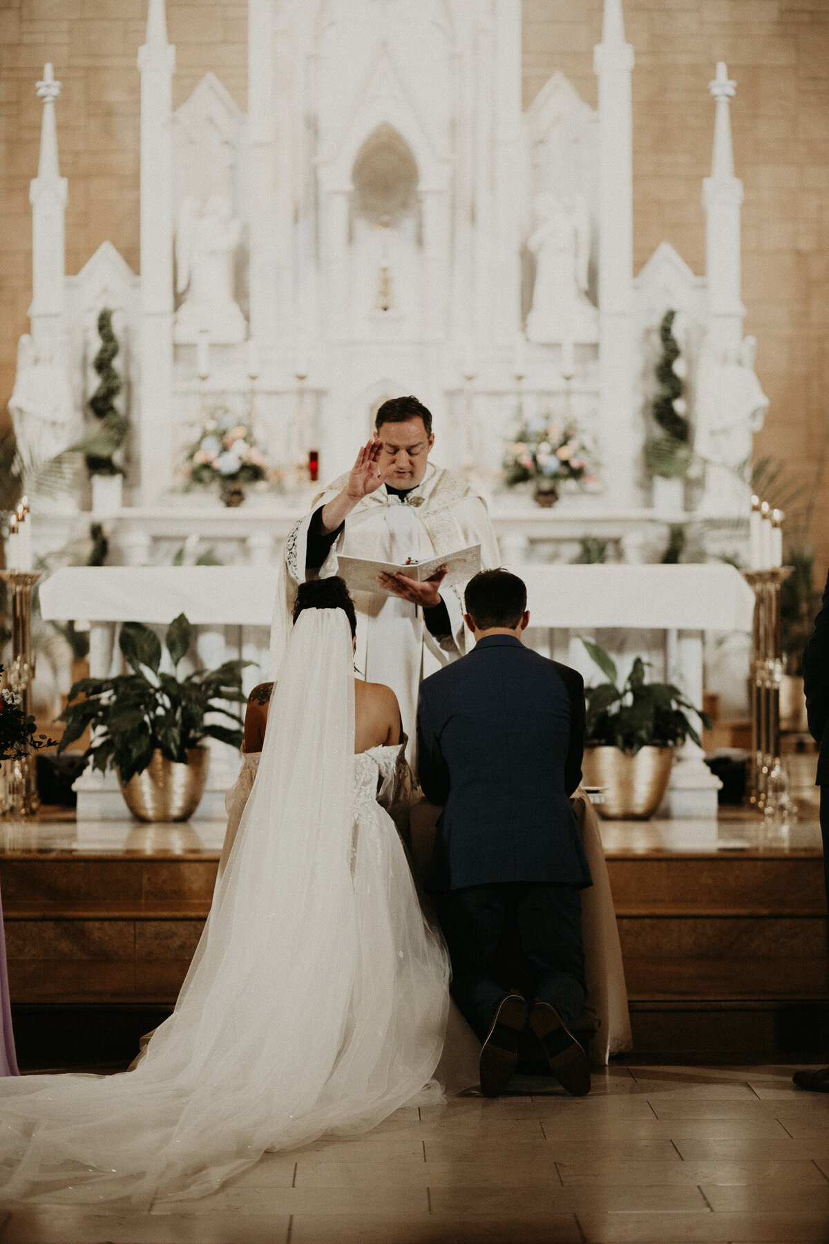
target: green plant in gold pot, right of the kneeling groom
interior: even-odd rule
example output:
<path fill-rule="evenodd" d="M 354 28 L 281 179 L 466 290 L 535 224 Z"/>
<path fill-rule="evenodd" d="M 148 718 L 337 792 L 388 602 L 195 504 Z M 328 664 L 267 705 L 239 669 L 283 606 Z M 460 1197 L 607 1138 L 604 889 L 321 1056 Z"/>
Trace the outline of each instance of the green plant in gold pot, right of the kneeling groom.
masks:
<path fill-rule="evenodd" d="M 648 663 L 636 657 L 619 687 L 613 658 L 598 643 L 582 639 L 607 683 L 585 687 L 584 781 L 602 786 L 599 811 L 608 820 L 645 821 L 667 790 L 674 749 L 687 738 L 700 743 L 689 712 L 703 725 L 710 717 L 691 704 L 671 683 L 645 682 Z"/>

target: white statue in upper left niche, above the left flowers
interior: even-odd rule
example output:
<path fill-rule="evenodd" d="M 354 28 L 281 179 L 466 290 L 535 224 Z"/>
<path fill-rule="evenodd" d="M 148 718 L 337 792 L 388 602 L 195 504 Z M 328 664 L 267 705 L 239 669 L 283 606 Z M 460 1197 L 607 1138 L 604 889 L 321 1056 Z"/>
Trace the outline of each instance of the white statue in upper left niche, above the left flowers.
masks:
<path fill-rule="evenodd" d="M 175 231 L 175 289 L 184 301 L 175 312 L 174 340 L 193 343 L 199 332 L 231 345 L 247 336 L 245 316 L 234 299 L 234 255 L 241 220 L 229 195 L 213 195 L 204 207 L 186 195 Z"/>

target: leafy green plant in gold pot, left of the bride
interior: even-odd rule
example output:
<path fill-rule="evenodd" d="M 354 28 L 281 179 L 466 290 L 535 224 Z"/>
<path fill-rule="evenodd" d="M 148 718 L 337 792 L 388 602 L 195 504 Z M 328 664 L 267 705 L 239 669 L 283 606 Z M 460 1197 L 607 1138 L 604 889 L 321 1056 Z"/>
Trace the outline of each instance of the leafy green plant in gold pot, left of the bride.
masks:
<path fill-rule="evenodd" d="M 124 622 L 118 639 L 129 666 L 114 678 L 82 678 L 58 720 L 58 751 L 89 728 L 85 755 L 93 769 L 114 769 L 129 811 L 142 821 L 184 821 L 204 794 L 210 753 L 206 738 L 240 748 L 242 719 L 226 704 L 244 704 L 241 672 L 250 662 L 226 661 L 179 678 L 193 628 L 179 613 L 164 639 L 173 673 L 162 671 L 162 644 L 140 622 Z M 209 720 L 229 718 L 232 725 Z"/>

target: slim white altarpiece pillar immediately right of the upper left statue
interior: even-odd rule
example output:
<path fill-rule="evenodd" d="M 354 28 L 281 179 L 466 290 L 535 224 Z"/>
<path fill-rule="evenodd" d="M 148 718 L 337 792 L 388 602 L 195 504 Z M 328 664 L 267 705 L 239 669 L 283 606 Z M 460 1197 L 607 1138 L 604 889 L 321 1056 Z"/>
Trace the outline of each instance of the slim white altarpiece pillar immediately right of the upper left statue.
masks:
<path fill-rule="evenodd" d="M 287 187 L 275 187 L 275 83 L 272 0 L 247 2 L 247 177 L 250 183 L 250 335 L 276 345 L 277 300 L 285 310 L 283 272 L 277 272 L 275 211 Z M 281 228 L 285 221 L 280 221 Z M 287 239 L 281 239 L 285 243 Z"/>

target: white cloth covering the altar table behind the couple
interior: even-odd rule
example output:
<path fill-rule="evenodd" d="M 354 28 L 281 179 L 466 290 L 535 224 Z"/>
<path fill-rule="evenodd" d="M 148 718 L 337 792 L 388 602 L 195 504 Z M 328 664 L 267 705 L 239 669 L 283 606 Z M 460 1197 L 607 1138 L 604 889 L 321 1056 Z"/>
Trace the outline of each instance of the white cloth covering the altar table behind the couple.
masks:
<path fill-rule="evenodd" d="M 751 632 L 754 593 L 733 566 L 511 566 L 533 627 Z M 276 570 L 260 566 L 65 566 L 41 586 L 45 618 L 270 626 Z"/>

